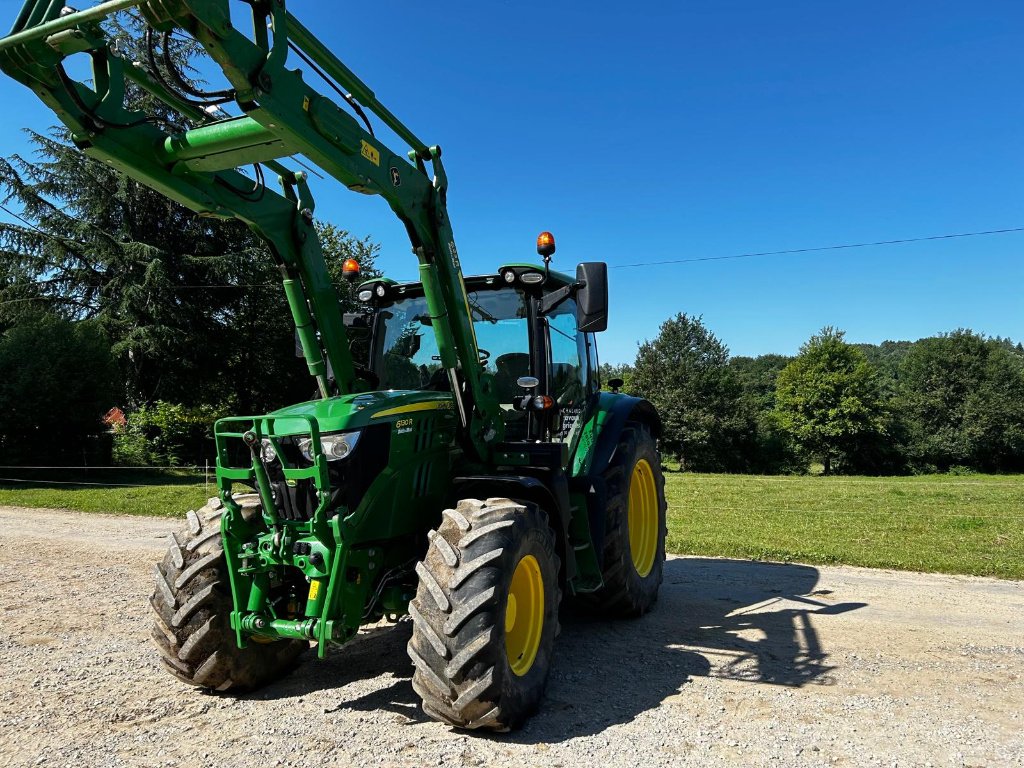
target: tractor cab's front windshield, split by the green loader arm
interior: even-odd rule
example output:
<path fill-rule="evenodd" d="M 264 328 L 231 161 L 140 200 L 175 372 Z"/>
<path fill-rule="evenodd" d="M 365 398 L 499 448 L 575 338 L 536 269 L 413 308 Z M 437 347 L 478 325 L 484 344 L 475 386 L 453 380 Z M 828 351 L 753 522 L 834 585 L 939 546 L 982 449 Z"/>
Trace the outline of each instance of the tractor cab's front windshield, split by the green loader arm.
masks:
<path fill-rule="evenodd" d="M 468 296 L 481 361 L 495 376 L 499 401 L 511 402 L 521 392 L 516 379 L 529 375 L 525 298 L 506 287 L 469 291 Z M 425 298 L 399 299 L 380 310 L 378 322 L 373 369 L 381 389 L 450 388 Z"/>

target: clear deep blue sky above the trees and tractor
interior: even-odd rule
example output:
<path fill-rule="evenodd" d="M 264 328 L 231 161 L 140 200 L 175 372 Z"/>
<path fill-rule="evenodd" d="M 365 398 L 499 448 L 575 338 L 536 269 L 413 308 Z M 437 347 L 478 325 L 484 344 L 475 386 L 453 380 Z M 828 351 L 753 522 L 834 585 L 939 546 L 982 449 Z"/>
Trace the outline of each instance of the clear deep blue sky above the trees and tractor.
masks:
<path fill-rule="evenodd" d="M 19 5 L 0 0 L 5 28 Z M 443 147 L 467 273 L 535 258 L 542 229 L 556 267 L 608 262 L 605 361 L 676 312 L 733 354 L 792 354 L 825 325 L 1024 340 L 1024 232 L 616 268 L 1024 226 L 1019 0 L 289 7 Z M 3 154 L 53 122 L 12 81 L 0 98 Z M 314 193 L 319 217 L 382 244 L 389 274 L 416 274 L 381 200 Z"/>

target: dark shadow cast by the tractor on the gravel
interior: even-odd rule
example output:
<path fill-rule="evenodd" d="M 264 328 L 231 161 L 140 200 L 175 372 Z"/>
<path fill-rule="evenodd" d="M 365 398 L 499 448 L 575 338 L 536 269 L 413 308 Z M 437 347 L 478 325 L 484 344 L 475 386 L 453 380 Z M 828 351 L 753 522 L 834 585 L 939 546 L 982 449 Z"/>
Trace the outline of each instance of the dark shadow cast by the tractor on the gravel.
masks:
<path fill-rule="evenodd" d="M 836 603 L 828 591 L 816 591 L 817 583 L 817 568 L 808 565 L 676 558 L 666 563 L 658 602 L 642 618 L 597 620 L 568 606 L 539 716 L 522 730 L 497 737 L 539 743 L 600 733 L 670 696 L 686 696 L 684 686 L 694 677 L 831 685 L 835 667 L 813 620 L 864 603 Z M 385 711 L 403 722 L 427 722 L 411 684 L 410 635 L 408 622 L 373 629 L 323 662 L 303 664 L 262 696 L 334 689 L 338 710 Z M 359 694 L 346 696 L 348 683 L 370 678 L 386 684 L 371 692 L 353 686 Z"/>

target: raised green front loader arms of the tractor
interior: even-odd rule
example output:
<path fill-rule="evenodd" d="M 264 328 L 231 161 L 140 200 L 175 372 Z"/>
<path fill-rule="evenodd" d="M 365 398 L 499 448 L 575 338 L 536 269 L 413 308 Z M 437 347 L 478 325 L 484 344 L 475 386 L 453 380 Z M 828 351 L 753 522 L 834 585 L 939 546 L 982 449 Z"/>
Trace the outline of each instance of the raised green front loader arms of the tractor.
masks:
<path fill-rule="evenodd" d="M 504 425 L 479 359 L 447 216 L 440 148 L 427 146 L 387 111 L 287 12 L 284 0 L 245 0 L 245 5 L 252 16 L 251 37 L 233 26 L 228 0 L 109 0 L 84 11 L 65 10 L 62 0 L 29 0 L 11 34 L 0 39 L 0 69 L 32 88 L 89 155 L 201 214 L 245 221 L 269 244 L 307 365 L 325 396 L 328 364 L 341 392 L 353 391 L 357 381 L 312 226 L 305 175 L 281 161 L 303 155 L 348 188 L 384 198 L 404 224 L 420 263 L 467 447 L 485 459 L 502 439 Z M 129 8 L 137 8 L 155 33 L 183 31 L 199 41 L 223 71 L 243 114 L 213 118 L 168 88 L 159 73 L 122 58 L 99 22 Z M 339 93 L 349 103 L 361 102 L 408 143 L 408 159 L 316 91 L 302 70 L 289 69 L 289 51 L 350 91 Z M 92 58 L 92 87 L 72 80 L 63 68 L 68 56 L 82 52 Z M 187 118 L 189 127 L 174 130 L 166 121 L 127 109 L 129 82 Z M 238 170 L 250 164 L 275 172 L 283 194 L 254 188 Z"/>

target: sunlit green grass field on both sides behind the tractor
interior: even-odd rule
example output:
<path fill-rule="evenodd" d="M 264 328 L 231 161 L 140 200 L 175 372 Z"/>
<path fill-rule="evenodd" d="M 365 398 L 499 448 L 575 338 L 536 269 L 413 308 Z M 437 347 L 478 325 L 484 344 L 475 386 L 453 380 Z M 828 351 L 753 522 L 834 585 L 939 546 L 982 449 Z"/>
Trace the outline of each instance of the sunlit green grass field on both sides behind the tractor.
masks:
<path fill-rule="evenodd" d="M 179 516 L 214 494 L 202 475 L 0 479 L 0 505 Z M 671 472 L 670 552 L 1024 579 L 1024 476 L 758 477 Z"/>

